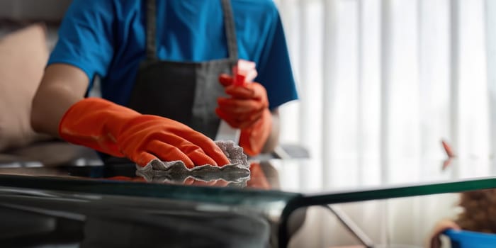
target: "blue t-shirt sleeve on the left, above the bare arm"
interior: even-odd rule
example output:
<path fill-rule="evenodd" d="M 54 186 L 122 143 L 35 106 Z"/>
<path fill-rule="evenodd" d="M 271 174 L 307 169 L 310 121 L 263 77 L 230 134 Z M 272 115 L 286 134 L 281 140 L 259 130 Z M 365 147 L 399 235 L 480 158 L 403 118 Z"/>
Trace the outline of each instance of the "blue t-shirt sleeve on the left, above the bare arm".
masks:
<path fill-rule="evenodd" d="M 114 16 L 110 0 L 74 0 L 47 64 L 79 67 L 90 79 L 90 87 L 96 74 L 105 77 L 113 57 Z"/>

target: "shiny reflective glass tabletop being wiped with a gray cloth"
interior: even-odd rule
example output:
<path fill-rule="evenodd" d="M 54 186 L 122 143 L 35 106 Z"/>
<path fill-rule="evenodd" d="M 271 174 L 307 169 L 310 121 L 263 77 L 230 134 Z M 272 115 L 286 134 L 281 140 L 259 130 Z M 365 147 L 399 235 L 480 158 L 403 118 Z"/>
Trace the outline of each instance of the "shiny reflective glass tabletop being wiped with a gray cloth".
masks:
<path fill-rule="evenodd" d="M 0 167 L 0 186 L 34 187 L 132 196 L 174 197 L 218 203 L 249 204 L 293 199 L 315 205 L 419 196 L 496 187 L 496 165 L 490 159 L 425 161 L 420 167 L 404 164 L 390 167 L 381 179 L 329 181 L 318 185 L 302 174 L 321 167 L 312 159 L 252 161 L 249 176 L 213 172 L 207 176 L 137 175 L 135 164 L 62 167 Z M 346 164 L 343 164 L 346 167 Z M 232 171 L 231 171 L 232 172 Z M 235 171 L 236 172 L 236 171 Z M 367 171 L 364 172 L 367 174 Z M 315 174 L 314 176 L 320 176 Z M 303 179 L 302 179 L 303 178 Z M 123 190 L 125 188 L 125 190 Z M 237 196 L 237 197 L 233 197 Z"/>

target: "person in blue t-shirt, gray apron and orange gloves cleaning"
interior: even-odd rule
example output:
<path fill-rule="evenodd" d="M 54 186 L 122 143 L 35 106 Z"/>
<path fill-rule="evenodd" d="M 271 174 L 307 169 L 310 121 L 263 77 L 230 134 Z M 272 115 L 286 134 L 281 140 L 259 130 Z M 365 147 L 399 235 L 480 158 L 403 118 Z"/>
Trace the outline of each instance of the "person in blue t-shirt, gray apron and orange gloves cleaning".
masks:
<path fill-rule="evenodd" d="M 254 82 L 233 84 L 239 60 Z M 87 97 L 94 79 L 102 98 Z M 31 114 L 33 129 L 140 166 L 222 166 L 222 119 L 249 155 L 278 142 L 278 107 L 297 99 L 271 0 L 74 0 Z"/>

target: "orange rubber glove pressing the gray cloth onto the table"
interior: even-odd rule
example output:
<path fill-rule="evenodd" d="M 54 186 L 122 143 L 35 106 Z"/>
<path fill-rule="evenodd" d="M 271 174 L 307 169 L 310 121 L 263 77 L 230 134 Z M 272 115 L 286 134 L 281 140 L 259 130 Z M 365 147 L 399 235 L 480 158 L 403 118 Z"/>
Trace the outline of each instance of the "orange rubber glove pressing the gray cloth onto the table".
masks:
<path fill-rule="evenodd" d="M 188 126 L 157 115 L 142 115 L 101 98 L 85 98 L 59 124 L 64 140 L 144 167 L 152 159 L 181 160 L 186 167 L 229 164 L 213 140 Z"/>

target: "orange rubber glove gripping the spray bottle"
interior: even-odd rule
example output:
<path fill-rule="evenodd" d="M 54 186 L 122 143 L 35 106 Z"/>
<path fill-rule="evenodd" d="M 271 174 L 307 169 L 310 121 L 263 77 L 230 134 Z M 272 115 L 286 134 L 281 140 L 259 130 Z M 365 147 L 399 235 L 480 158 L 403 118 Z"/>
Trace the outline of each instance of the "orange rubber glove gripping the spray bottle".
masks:
<path fill-rule="evenodd" d="M 257 82 L 242 86 L 233 84 L 232 77 L 221 74 L 220 84 L 230 97 L 219 97 L 215 113 L 232 128 L 241 129 L 239 146 L 249 155 L 261 152 L 272 129 L 272 116 L 265 87 Z"/>

